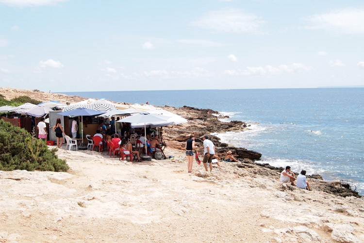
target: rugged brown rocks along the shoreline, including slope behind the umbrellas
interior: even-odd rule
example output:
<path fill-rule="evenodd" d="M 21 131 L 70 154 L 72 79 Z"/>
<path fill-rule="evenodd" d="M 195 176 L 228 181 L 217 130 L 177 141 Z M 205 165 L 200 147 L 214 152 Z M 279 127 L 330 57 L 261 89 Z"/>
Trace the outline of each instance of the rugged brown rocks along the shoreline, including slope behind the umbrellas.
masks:
<path fill-rule="evenodd" d="M 16 89 L 11 87 L 0 87 L 0 94 L 2 94 L 7 100 L 18 96 L 29 96 L 30 98 L 43 102 L 56 100 L 62 103 L 80 102 L 87 99 L 79 96 L 45 93 L 39 90 Z M 199 147 L 201 148 L 203 143 L 202 136 L 205 134 L 224 133 L 228 131 L 244 131 L 245 129 L 249 129 L 249 125 L 243 121 L 219 121 L 218 119 L 224 117 L 221 116 L 219 112 L 212 109 L 200 109 L 190 106 L 182 106 L 179 108 L 172 106 L 162 106 L 161 108 L 181 115 L 183 118 L 188 120 L 187 123 L 175 126 L 167 126 L 163 128 L 164 142 L 167 144 L 168 148 L 172 149 L 184 150 L 185 141 L 191 134 L 196 135 L 196 142 L 200 145 Z M 222 143 L 220 142 L 219 138 L 213 135 L 211 135 L 211 140 L 214 142 L 217 148 L 218 156 L 222 157 L 229 150 L 231 150 L 232 153 L 236 155 L 235 157 L 239 161 L 241 161 L 241 163 L 233 163 L 237 168 L 246 169 L 263 167 L 271 171 L 269 173 L 267 173 L 266 171 L 262 172 L 264 175 L 269 174 L 275 178 L 278 178 L 279 174 L 283 170 L 282 167 L 277 168 L 269 164 L 255 162 L 260 160 L 262 156 L 262 154 L 258 152 L 247 150 L 245 148 L 237 148 L 230 146 L 229 144 Z M 314 190 L 325 191 L 342 197 L 361 197 L 361 195 L 359 195 L 357 191 L 352 191 L 351 189 L 342 186 L 339 181 L 324 181 L 322 179 L 322 176 L 320 175 L 308 175 L 307 177 L 314 181 Z M 287 188 L 289 190 L 295 189 L 295 187 L 291 186 L 287 186 Z"/>

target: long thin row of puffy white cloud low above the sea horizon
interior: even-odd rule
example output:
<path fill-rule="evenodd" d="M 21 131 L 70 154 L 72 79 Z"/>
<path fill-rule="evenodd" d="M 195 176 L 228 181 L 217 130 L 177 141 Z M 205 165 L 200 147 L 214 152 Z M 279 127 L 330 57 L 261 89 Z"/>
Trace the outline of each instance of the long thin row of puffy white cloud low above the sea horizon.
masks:
<path fill-rule="evenodd" d="M 293 73 L 293 72 L 303 72 L 312 70 L 311 67 L 305 66 L 301 63 L 293 63 L 291 65 L 280 65 L 278 67 L 273 67 L 267 65 L 265 67 L 247 67 L 244 70 L 241 69 L 231 69 L 225 70 L 224 73 L 231 76 L 238 75 L 271 75 L 271 74 L 282 74 L 282 73 Z"/>

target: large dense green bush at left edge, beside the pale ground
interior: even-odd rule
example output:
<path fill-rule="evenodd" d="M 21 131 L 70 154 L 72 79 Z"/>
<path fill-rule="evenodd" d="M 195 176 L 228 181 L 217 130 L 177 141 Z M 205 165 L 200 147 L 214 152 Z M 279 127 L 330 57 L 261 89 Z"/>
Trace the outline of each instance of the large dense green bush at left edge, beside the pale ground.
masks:
<path fill-rule="evenodd" d="M 65 159 L 59 159 L 56 148 L 48 149 L 45 141 L 34 139 L 25 129 L 0 120 L 0 170 L 66 172 Z"/>

